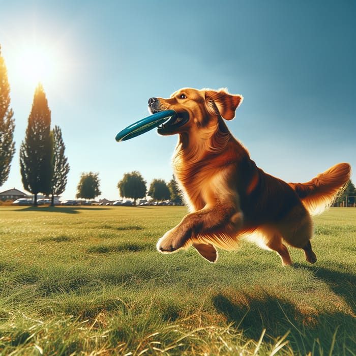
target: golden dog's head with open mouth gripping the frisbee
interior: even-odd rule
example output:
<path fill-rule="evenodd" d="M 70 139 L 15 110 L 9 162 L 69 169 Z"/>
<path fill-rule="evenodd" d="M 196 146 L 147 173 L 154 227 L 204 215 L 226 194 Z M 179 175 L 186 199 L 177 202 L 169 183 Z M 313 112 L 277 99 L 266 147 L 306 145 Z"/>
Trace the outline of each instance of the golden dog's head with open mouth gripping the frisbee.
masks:
<path fill-rule="evenodd" d="M 197 90 L 183 88 L 169 99 L 150 98 L 149 111 L 153 114 L 163 110 L 174 110 L 176 118 L 170 118 L 158 127 L 160 135 L 173 135 L 211 128 L 217 125 L 221 117 L 232 120 L 235 110 L 241 104 L 241 95 L 231 95 L 226 90 Z"/>

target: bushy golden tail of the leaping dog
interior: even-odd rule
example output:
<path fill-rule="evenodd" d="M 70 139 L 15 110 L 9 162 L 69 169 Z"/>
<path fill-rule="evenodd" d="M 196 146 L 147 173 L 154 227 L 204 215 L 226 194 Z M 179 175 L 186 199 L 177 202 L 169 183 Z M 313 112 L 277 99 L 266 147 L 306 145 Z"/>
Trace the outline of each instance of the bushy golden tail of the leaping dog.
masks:
<path fill-rule="evenodd" d="M 299 195 L 308 212 L 318 215 L 327 209 L 338 193 L 346 187 L 350 174 L 351 166 L 348 163 L 338 163 L 309 182 L 289 185 Z"/>

